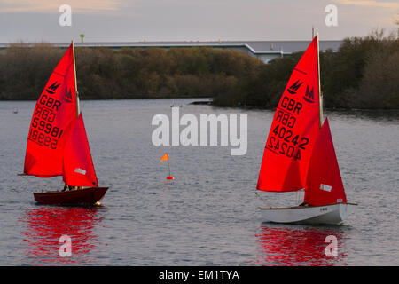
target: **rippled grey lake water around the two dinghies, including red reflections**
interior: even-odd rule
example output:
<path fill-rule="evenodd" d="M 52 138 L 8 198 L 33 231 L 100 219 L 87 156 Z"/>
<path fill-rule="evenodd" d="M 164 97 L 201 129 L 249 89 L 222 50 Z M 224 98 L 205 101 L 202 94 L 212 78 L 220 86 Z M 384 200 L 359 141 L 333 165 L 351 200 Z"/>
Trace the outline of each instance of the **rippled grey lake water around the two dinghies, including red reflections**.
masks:
<path fill-rule="evenodd" d="M 61 177 L 17 176 L 35 102 L 0 102 L 0 265 L 399 265 L 398 112 L 327 112 L 348 201 L 359 204 L 344 225 L 272 225 L 262 224 L 255 186 L 274 112 L 192 100 L 81 101 L 99 185 L 110 186 L 98 209 L 35 203 L 33 192 L 61 188 Z M 247 114 L 246 154 L 153 146 L 153 115 L 171 117 L 172 105 L 198 118 Z M 166 152 L 174 181 L 160 162 Z M 71 257 L 59 256 L 61 235 Z M 338 256 L 325 256 L 329 235 Z"/>

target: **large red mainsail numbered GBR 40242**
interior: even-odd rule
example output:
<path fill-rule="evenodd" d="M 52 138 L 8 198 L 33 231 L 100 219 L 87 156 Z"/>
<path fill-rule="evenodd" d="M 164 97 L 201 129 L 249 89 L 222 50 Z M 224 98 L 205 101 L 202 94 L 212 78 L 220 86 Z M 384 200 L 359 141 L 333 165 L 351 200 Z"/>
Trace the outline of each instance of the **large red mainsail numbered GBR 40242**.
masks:
<path fill-rule="evenodd" d="M 317 37 L 309 44 L 278 103 L 266 142 L 257 189 L 304 188 L 319 131 Z"/>

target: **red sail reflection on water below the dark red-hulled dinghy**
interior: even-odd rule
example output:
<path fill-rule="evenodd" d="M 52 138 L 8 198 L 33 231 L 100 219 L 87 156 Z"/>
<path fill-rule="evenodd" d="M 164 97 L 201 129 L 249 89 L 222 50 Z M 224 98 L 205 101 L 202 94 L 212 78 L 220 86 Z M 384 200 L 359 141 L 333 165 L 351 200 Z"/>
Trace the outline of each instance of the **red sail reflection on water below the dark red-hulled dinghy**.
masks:
<path fill-rule="evenodd" d="M 93 229 L 102 219 L 98 217 L 98 209 L 41 207 L 27 210 L 20 218 L 20 222 L 27 225 L 21 232 L 27 242 L 25 252 L 34 261 L 44 264 L 89 262 L 88 254 L 98 239 Z M 71 238 L 72 256 L 59 256 L 62 235 Z"/>

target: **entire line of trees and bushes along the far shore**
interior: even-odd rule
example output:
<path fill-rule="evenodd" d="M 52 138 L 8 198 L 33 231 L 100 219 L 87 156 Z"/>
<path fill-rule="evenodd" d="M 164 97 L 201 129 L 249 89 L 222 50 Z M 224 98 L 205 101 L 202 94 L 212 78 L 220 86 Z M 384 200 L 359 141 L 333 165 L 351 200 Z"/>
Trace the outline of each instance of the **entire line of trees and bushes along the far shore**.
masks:
<path fill-rule="evenodd" d="M 37 99 L 65 49 L 50 43 L 0 51 L 0 99 Z M 208 47 L 76 48 L 82 99 L 213 97 L 215 106 L 275 107 L 303 51 L 268 64 Z M 346 38 L 320 53 L 328 108 L 399 108 L 399 30 Z"/>

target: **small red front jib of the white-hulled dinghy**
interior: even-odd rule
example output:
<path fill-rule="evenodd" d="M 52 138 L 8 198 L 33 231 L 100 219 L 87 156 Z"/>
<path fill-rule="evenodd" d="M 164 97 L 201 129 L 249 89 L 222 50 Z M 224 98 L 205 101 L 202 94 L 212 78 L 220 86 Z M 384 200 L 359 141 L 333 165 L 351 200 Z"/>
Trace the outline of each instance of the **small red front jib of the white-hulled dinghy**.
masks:
<path fill-rule="evenodd" d="M 347 202 L 327 119 L 310 158 L 304 201 L 312 206 Z"/>

